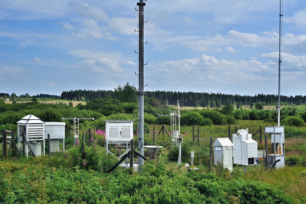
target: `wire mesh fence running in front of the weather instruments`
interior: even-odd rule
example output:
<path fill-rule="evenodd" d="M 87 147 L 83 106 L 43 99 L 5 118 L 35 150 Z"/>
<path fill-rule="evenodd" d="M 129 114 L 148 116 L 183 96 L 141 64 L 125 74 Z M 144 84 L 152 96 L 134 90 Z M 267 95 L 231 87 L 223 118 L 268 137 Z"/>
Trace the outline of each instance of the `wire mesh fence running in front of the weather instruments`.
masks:
<path fill-rule="evenodd" d="M 50 135 L 50 138 L 50 142 L 48 142 L 47 139 L 45 139 L 44 142 L 31 142 L 29 146 L 31 146 L 33 151 L 35 151 L 35 156 L 44 154 L 48 155 L 48 153 L 50 152 L 51 156 L 64 158 L 68 157 L 67 153 L 65 152 L 76 146 L 79 147 L 81 153 L 79 158 L 81 164 L 84 161 L 84 158 L 86 158 L 87 162 L 90 162 L 89 160 L 91 159 L 104 158 L 104 155 L 106 155 L 106 145 L 103 134 L 96 134 L 95 132 L 93 132 L 93 134 L 85 134 L 83 135 L 83 137 L 80 136 L 78 140 L 76 140 L 74 136 L 65 136 L 65 138 L 62 138 L 62 136 L 56 134 Z M 238 148 L 237 145 L 233 145 L 232 147 L 230 145 L 227 145 L 225 147 L 213 146 L 217 139 L 218 138 L 216 137 L 200 137 L 199 139 L 196 137 L 194 139 L 184 138 L 183 142 L 181 143 L 181 155 L 179 154 L 179 146 L 176 143 L 171 142 L 170 138 L 167 136 L 163 138 L 160 137 L 154 141 L 152 138 L 145 138 L 145 142 L 142 148 L 144 148 L 144 157 L 146 157 L 148 160 L 166 162 L 167 168 L 175 169 L 178 167 L 184 167 L 184 164 L 211 166 L 218 162 L 226 163 L 226 161 L 233 161 L 232 166 L 235 167 L 237 163 L 235 163 L 235 157 L 237 157 L 237 155 L 235 155 L 235 151 L 237 151 Z M 231 137 L 229 140 L 233 144 L 235 144 L 233 137 Z M 251 150 L 248 150 L 247 148 L 249 148 L 249 146 L 241 145 L 241 147 L 239 147 L 241 152 L 240 155 L 238 155 L 241 158 L 246 155 L 246 162 L 249 165 L 263 164 L 264 166 L 264 164 L 266 163 L 266 152 L 268 155 L 285 154 L 284 163 L 286 166 L 306 165 L 306 135 L 285 135 L 284 143 L 279 144 L 279 146 L 277 147 L 274 147 L 274 143 L 271 142 L 271 135 L 267 135 L 266 141 L 264 135 L 252 136 L 252 140 L 256 142 L 256 150 L 252 148 Z M 3 148 L 4 144 L 2 143 L 2 152 L 4 151 L 3 149 L 5 149 L 5 151 L 7 151 L 9 154 L 13 156 L 16 155 L 15 153 L 13 154 L 14 149 L 10 148 L 10 144 L 12 144 L 12 142 L 15 142 L 18 150 L 18 155 L 24 156 L 24 149 L 26 148 L 24 148 L 24 143 L 22 142 L 22 140 L 21 142 L 18 142 L 18 138 L 14 137 L 14 141 L 12 141 L 11 137 L 8 135 L 7 141 L 8 142 L 6 144 L 6 148 Z M 267 145 L 265 145 L 265 143 L 267 143 Z M 138 145 L 139 144 L 137 143 L 135 144 L 135 151 L 137 151 L 137 148 L 139 148 Z M 157 146 L 157 148 L 154 149 L 152 152 L 147 148 L 147 146 L 150 145 L 155 145 Z M 280 145 L 282 145 L 282 147 Z M 92 152 L 91 154 L 89 154 L 89 150 L 85 151 L 85 148 L 92 148 L 92 152 L 94 152 L 94 154 Z M 109 145 L 108 150 L 116 163 L 122 158 L 122 155 L 124 155 L 130 150 L 129 148 L 129 142 L 117 142 Z M 31 151 L 26 151 L 28 151 L 29 155 L 31 155 Z M 250 153 L 248 151 L 253 152 Z M 219 155 L 220 152 L 221 157 Z M 229 152 L 231 152 L 232 154 L 230 154 Z M 252 153 L 255 153 L 257 155 L 256 157 L 251 157 L 254 158 L 255 161 L 251 161 L 250 157 L 248 157 L 248 154 Z M 192 155 L 193 158 L 191 157 Z M 135 170 L 137 170 L 139 157 L 138 155 L 134 154 L 132 158 L 132 163 L 136 164 Z M 179 158 L 181 159 L 181 165 L 178 165 Z M 129 164 L 131 163 L 130 157 L 127 157 L 123 162 L 126 165 L 120 165 L 119 168 L 128 168 Z M 111 166 L 109 165 L 107 168 L 110 169 Z"/>

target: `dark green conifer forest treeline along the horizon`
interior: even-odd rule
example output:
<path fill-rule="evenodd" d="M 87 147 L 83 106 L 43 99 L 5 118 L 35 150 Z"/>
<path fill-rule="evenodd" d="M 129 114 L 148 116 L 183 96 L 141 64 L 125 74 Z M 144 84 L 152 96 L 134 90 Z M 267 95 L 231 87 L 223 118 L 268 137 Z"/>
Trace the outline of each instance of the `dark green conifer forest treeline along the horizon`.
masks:
<path fill-rule="evenodd" d="M 128 85 L 129 86 L 129 85 Z M 173 91 L 146 91 L 146 97 L 156 98 L 162 104 L 175 105 L 177 99 L 180 100 L 182 106 L 191 107 L 222 107 L 223 105 L 250 105 L 262 104 L 262 105 L 277 105 L 278 96 L 274 94 L 255 94 L 250 95 L 232 95 L 222 93 L 195 93 L 195 92 L 173 92 Z M 37 94 L 30 96 L 29 94 L 16 96 L 15 93 L 9 95 L 8 93 L 0 93 L 0 97 L 9 98 L 10 100 L 19 100 L 20 98 L 29 99 L 31 97 L 36 98 L 50 98 L 50 99 L 62 99 L 62 100 L 76 100 L 87 101 L 99 98 L 117 98 L 116 89 L 112 90 L 71 90 L 63 91 L 61 96 L 49 95 L 49 94 Z M 136 98 L 136 96 L 135 96 Z M 280 97 L 281 105 L 301 105 L 306 104 L 306 96 L 283 96 Z"/>

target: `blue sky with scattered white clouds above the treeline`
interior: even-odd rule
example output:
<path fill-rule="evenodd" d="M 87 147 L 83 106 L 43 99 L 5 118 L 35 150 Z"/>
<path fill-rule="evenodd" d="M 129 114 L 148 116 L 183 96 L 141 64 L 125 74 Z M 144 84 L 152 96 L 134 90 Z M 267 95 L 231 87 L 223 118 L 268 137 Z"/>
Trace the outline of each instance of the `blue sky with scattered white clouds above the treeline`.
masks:
<path fill-rule="evenodd" d="M 147 0 L 144 91 L 278 94 L 278 0 Z M 0 93 L 138 88 L 135 0 L 2 0 Z M 281 95 L 306 95 L 306 2 L 282 2 Z"/>

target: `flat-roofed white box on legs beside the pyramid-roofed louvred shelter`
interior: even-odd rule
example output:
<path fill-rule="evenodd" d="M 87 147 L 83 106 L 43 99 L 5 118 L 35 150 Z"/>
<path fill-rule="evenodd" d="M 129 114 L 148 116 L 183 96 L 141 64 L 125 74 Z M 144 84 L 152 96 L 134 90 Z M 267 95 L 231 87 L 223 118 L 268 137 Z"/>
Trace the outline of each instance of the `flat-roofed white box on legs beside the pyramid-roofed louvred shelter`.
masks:
<path fill-rule="evenodd" d="M 44 138 L 48 139 L 50 134 L 50 152 L 65 151 L 65 125 L 63 122 L 45 122 Z M 63 143 L 63 148 L 59 148 L 60 142 Z"/>

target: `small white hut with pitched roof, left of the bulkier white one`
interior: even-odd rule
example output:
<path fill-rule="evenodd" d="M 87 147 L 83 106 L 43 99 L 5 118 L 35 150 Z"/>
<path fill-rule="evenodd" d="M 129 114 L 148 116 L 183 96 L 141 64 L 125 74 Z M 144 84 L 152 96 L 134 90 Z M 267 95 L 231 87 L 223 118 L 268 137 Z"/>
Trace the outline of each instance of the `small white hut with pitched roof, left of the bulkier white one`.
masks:
<path fill-rule="evenodd" d="M 233 143 L 229 138 L 217 138 L 213 144 L 215 165 L 221 163 L 223 168 L 233 171 Z"/>

